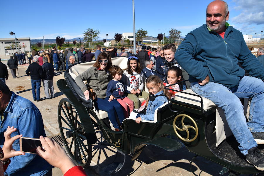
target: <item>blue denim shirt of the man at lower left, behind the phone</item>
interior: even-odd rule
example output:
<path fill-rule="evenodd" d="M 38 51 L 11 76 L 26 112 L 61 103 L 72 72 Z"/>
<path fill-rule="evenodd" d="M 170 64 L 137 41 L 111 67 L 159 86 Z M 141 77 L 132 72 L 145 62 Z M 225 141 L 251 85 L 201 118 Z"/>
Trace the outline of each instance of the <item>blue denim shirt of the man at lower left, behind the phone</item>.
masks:
<path fill-rule="evenodd" d="M 4 111 L 3 121 L 0 119 L 0 147 L 3 147 L 5 138 L 4 132 L 7 126 L 14 126 L 17 131 L 11 137 L 22 134 L 23 137 L 39 138 L 46 136 L 42 116 L 38 108 L 28 99 L 11 92 L 12 96 Z M 19 139 L 14 141 L 13 148 L 20 150 Z M 7 167 L 6 175 L 31 175 L 42 176 L 53 166 L 36 154 L 26 153 L 26 155 L 15 156 Z"/>

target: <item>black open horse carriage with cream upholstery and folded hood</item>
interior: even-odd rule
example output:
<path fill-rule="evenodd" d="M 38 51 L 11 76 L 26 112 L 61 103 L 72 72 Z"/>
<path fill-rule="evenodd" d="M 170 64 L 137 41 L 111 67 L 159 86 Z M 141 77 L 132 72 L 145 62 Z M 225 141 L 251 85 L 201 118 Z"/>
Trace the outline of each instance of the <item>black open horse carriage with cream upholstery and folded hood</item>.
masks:
<path fill-rule="evenodd" d="M 111 60 L 113 65 L 119 65 L 123 70 L 126 68 L 126 57 Z M 127 118 L 121 124 L 122 131 L 114 131 L 107 112 L 95 109 L 93 101 L 85 99 L 74 81 L 94 62 L 70 66 L 65 72 L 65 79 L 57 81 L 59 89 L 67 96 L 58 105 L 60 133 L 67 152 L 77 165 L 86 167 L 91 163 L 95 156 L 92 148 L 99 131 L 109 145 L 131 155 L 132 160 L 138 158 L 148 145 L 174 151 L 184 144 L 189 151 L 222 165 L 222 174 L 257 175 L 260 172 L 248 164 L 238 150 L 239 144 L 227 125 L 223 111 L 190 89 L 177 92 L 174 99 L 168 99 L 168 103 L 156 109 L 154 121 L 143 120 L 138 124 L 135 119 Z M 155 96 L 150 95 L 150 99 L 155 99 Z M 241 102 L 246 112 L 247 101 Z"/>

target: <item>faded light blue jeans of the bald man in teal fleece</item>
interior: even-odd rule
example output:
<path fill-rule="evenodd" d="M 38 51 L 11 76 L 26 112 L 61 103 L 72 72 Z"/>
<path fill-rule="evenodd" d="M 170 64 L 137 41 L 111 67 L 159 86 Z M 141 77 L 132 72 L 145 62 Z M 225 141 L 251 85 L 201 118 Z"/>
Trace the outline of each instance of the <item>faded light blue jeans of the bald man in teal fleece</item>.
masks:
<path fill-rule="evenodd" d="M 248 149 L 257 146 L 251 132 L 264 131 L 264 82 L 261 79 L 244 76 L 238 87 L 232 89 L 214 82 L 204 86 L 192 82 L 191 89 L 223 109 L 227 123 L 240 144 L 238 148 L 241 153 L 246 155 Z M 252 98 L 248 123 L 239 98 Z"/>

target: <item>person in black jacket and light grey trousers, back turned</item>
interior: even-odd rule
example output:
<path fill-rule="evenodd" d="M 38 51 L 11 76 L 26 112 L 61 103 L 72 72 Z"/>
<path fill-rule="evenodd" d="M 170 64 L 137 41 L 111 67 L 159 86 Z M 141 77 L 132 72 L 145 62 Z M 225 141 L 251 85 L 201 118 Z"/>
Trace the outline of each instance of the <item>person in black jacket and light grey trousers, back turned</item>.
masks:
<path fill-rule="evenodd" d="M 46 95 L 46 99 L 52 99 L 54 98 L 54 87 L 53 87 L 54 69 L 53 69 L 53 65 L 48 62 L 47 57 L 43 57 L 43 62 L 44 64 L 42 65 L 42 69 L 43 69 L 45 95 Z M 50 89 L 50 93 L 49 93 L 49 89 Z"/>

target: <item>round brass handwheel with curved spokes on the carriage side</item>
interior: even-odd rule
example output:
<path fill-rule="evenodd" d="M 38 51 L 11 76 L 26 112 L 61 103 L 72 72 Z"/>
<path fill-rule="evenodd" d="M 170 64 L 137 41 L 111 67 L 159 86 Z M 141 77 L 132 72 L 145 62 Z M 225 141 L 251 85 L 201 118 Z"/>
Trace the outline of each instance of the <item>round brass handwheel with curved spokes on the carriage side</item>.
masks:
<path fill-rule="evenodd" d="M 179 128 L 176 126 L 176 120 L 182 116 L 182 120 L 181 120 L 181 123 L 182 123 L 182 128 Z M 191 126 L 191 125 L 185 125 L 184 124 L 184 119 L 185 117 L 187 117 L 188 119 L 190 119 L 192 121 L 192 123 L 194 124 L 195 127 Z M 188 128 L 192 128 L 194 131 L 195 131 L 195 136 L 192 138 L 192 139 L 189 139 L 189 130 Z M 198 136 L 198 126 L 196 124 L 196 122 L 194 121 L 194 119 L 192 119 L 192 117 L 186 115 L 186 114 L 179 114 L 177 115 L 174 120 L 173 120 L 173 129 L 176 133 L 176 135 L 182 140 L 182 141 L 185 141 L 185 142 L 192 142 L 194 141 L 197 136 Z M 183 138 L 182 136 L 180 136 L 180 134 L 177 132 L 177 130 L 179 131 L 185 131 L 187 133 L 187 137 L 186 138 Z"/>

